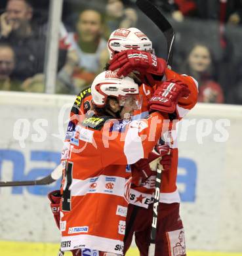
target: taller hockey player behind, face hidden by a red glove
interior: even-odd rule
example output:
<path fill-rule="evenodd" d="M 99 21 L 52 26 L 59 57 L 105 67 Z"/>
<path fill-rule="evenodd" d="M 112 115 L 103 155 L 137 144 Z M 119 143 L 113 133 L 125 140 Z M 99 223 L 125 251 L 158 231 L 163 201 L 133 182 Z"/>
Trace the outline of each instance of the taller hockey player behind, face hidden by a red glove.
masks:
<path fill-rule="evenodd" d="M 148 49 L 144 49 L 144 45 Z M 197 81 L 188 75 L 176 74 L 169 68 L 162 68 L 164 60 L 152 54 L 151 41 L 135 28 L 119 29 L 111 33 L 108 49 L 111 58 L 110 70 L 117 70 L 117 75 L 128 75 L 134 72 L 143 83 L 143 94 L 150 100 L 151 108 L 169 115 L 169 131 L 164 134 L 163 140 L 172 149 L 172 158 L 169 171 L 162 172 L 155 255 L 176 256 L 178 255 L 176 251 L 180 251 L 179 255 L 185 256 L 184 228 L 179 215 L 180 196 L 176 187 L 178 148 L 175 124 L 195 106 L 198 93 Z M 144 87 L 145 83 L 151 87 Z M 188 86 L 190 95 L 179 98 L 178 102 L 172 101 L 176 90 L 179 90 L 183 84 Z M 159 104 L 156 106 L 160 101 L 163 101 L 162 108 Z M 146 114 L 147 106 L 143 104 L 142 117 Z M 176 121 L 173 121 L 175 119 Z M 149 159 L 140 160 L 132 165 L 135 173 L 140 175 L 145 173 L 148 179 L 140 186 L 133 182 L 131 187 L 124 253 L 129 249 L 134 234 L 140 255 L 148 255 L 153 210 L 151 204 L 154 192 L 153 180 L 155 179 L 155 173 L 150 169 L 149 162 Z"/>

